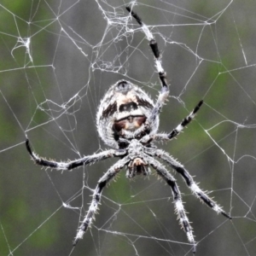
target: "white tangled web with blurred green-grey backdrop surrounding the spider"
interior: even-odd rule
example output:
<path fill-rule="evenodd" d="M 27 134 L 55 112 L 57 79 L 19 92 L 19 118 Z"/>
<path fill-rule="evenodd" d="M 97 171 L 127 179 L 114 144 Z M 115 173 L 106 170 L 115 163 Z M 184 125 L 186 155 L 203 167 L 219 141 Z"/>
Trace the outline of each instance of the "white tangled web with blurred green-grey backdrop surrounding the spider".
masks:
<path fill-rule="evenodd" d="M 156 98 L 153 54 L 126 5 L 154 33 L 171 84 L 160 131 L 205 102 L 177 140 L 158 145 L 233 217 L 202 205 L 174 174 L 197 254 L 255 255 L 256 5 L 230 0 L 1 1 L 0 254 L 192 254 L 171 189 L 155 175 L 129 181 L 125 172 L 103 190 L 96 220 L 73 248 L 97 180 L 115 160 L 56 172 L 34 166 L 26 152 L 26 135 L 55 160 L 108 148 L 95 117 L 119 79 Z"/>

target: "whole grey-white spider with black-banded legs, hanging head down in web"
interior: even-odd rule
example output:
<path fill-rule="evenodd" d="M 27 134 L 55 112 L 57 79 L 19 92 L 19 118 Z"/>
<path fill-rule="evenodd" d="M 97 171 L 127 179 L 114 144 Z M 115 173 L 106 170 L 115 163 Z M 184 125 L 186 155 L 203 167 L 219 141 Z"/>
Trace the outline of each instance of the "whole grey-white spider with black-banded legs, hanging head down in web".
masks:
<path fill-rule="evenodd" d="M 172 169 L 179 173 L 192 193 L 201 199 L 208 207 L 211 207 L 215 212 L 222 213 L 226 218 L 231 219 L 231 217 L 198 187 L 193 177 L 190 176 L 189 172 L 182 164 L 174 160 L 172 156 L 165 151 L 156 148 L 153 142 L 171 141 L 172 138 L 177 137 L 183 128 L 189 125 L 191 120 L 194 119 L 195 113 L 201 108 L 203 102 L 199 102 L 193 111 L 171 132 L 157 133 L 160 109 L 163 107 L 169 95 L 166 72 L 161 65 L 161 55 L 157 42 L 153 34 L 149 31 L 148 26 L 143 23 L 142 19 L 133 12 L 130 7 L 126 7 L 126 9 L 131 16 L 137 20 L 139 26 L 141 26 L 154 54 L 155 67 L 159 74 L 161 84 L 157 101 L 154 103 L 148 94 L 137 85 L 129 81 L 119 80 L 110 87 L 106 95 L 102 98 L 96 114 L 96 125 L 100 137 L 102 137 L 104 143 L 114 149 L 84 156 L 79 160 L 68 162 L 45 160 L 38 156 L 32 152 L 28 138 L 26 138 L 26 149 L 36 164 L 56 170 L 72 170 L 73 168 L 94 164 L 99 160 L 106 160 L 110 157 L 117 157 L 119 159 L 108 169 L 108 172 L 99 179 L 93 193 L 89 210 L 82 224 L 79 226 L 79 230 L 73 241 L 73 246 L 83 238 L 85 231 L 90 227 L 98 204 L 101 201 L 102 189 L 105 188 L 107 183 L 124 167 L 126 168 L 126 177 L 132 178 L 139 174 L 145 176 L 149 175 L 149 166 L 151 166 L 171 187 L 179 222 L 187 235 L 188 241 L 193 245 L 193 252 L 195 253 L 196 243 L 193 230 L 183 207 L 182 196 L 177 187 L 176 180 L 172 177 L 172 174 L 166 170 L 166 167 L 155 158 L 157 157 L 163 160 L 168 166 L 171 166 Z"/>

